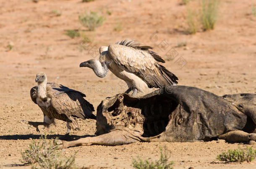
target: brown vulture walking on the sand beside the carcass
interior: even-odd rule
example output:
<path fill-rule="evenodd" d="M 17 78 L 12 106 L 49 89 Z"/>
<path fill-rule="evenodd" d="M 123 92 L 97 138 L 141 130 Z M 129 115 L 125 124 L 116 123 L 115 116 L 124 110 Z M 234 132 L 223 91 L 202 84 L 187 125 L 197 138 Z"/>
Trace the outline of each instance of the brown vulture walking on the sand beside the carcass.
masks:
<path fill-rule="evenodd" d="M 30 90 L 30 96 L 44 114 L 44 122 L 28 121 L 28 124 L 37 128 L 44 125 L 49 127 L 54 123 L 54 119 L 67 122 L 67 132 L 69 135 L 71 129 L 80 130 L 77 118 L 80 119 L 96 119 L 92 114 L 94 107 L 91 103 L 84 99 L 85 94 L 75 91 L 57 83 L 47 83 L 47 76 L 44 72 L 37 73 L 36 82 L 38 86 L 34 86 Z"/>

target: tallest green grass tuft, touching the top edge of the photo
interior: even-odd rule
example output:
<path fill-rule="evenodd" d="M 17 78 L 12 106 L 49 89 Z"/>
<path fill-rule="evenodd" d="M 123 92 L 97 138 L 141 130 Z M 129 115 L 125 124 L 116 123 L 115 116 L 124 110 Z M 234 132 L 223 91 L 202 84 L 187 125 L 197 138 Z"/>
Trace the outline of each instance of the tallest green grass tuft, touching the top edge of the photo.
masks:
<path fill-rule="evenodd" d="M 218 8 L 219 0 L 202 0 L 201 22 L 204 31 L 214 29 Z"/>

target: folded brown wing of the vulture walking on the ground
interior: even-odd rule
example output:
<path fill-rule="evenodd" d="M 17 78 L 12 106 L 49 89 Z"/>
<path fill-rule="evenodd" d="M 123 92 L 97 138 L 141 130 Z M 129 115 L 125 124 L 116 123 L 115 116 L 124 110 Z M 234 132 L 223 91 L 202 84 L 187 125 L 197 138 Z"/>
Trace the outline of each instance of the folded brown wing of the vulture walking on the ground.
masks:
<path fill-rule="evenodd" d="M 65 114 L 67 117 L 74 116 L 81 119 L 96 119 L 96 116 L 92 114 L 94 107 L 78 92 L 69 91 L 60 93 L 51 99 L 51 103 L 58 114 Z"/>

